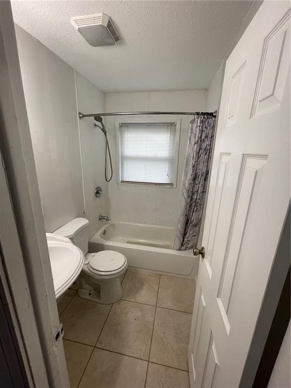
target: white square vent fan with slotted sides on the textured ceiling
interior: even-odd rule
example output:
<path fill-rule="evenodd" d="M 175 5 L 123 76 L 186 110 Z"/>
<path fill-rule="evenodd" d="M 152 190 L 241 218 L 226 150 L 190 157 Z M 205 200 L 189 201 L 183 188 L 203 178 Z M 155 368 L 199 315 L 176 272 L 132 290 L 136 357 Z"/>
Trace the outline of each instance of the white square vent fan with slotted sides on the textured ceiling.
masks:
<path fill-rule="evenodd" d="M 106 14 L 74 16 L 71 23 L 93 47 L 111 46 L 120 40 L 112 19 Z"/>

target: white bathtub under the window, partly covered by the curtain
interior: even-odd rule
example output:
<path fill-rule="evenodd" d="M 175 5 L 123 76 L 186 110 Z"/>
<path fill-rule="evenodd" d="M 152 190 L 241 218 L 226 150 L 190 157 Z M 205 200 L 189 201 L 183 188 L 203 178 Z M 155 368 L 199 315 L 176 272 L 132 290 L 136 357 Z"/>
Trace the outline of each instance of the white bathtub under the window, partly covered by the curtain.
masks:
<path fill-rule="evenodd" d="M 90 239 L 89 252 L 118 251 L 135 269 L 195 279 L 199 258 L 171 249 L 172 241 L 171 227 L 109 221 Z"/>

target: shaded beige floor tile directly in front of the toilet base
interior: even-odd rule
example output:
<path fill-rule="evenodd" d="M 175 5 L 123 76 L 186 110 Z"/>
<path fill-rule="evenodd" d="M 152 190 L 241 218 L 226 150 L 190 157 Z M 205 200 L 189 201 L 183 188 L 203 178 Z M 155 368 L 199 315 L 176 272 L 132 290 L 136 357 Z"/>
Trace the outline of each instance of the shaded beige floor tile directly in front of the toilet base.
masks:
<path fill-rule="evenodd" d="M 61 316 L 64 338 L 95 345 L 111 305 L 87 301 L 76 295 Z"/>

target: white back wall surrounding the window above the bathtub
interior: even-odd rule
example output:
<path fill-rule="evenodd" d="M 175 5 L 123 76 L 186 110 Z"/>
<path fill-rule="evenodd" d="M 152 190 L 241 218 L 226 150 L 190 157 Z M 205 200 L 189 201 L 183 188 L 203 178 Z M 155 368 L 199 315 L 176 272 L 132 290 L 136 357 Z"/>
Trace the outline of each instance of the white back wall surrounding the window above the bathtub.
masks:
<path fill-rule="evenodd" d="M 207 91 L 171 92 L 128 92 L 107 93 L 106 112 L 134 111 L 203 111 L 206 107 Z M 150 116 L 142 116 L 147 118 Z M 157 117 L 157 116 L 155 116 Z M 175 226 L 177 219 L 181 178 L 188 140 L 191 116 L 171 116 L 171 120 L 181 117 L 181 133 L 176 188 L 128 186 L 116 183 L 115 161 L 115 120 L 107 117 L 106 124 L 113 156 L 113 179 L 109 183 L 110 216 L 114 220 Z M 132 118 L 132 116 L 124 116 Z M 135 118 L 140 118 L 135 116 Z M 166 118 L 166 116 L 163 116 Z M 168 117 L 169 118 L 169 117 Z"/>

